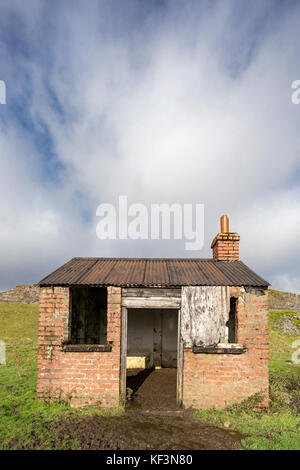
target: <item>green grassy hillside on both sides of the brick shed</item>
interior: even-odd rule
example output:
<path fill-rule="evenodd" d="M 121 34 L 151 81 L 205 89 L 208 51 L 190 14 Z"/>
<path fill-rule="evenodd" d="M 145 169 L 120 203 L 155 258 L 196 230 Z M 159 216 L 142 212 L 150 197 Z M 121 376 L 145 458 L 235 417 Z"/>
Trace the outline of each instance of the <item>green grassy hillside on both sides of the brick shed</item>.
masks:
<path fill-rule="evenodd" d="M 243 445 L 247 448 L 299 448 L 300 364 L 294 364 L 291 356 L 295 352 L 292 343 L 300 340 L 300 335 L 283 332 L 287 317 L 295 325 L 300 323 L 297 315 L 270 311 L 270 408 L 253 411 L 257 407 L 257 397 L 253 397 L 227 410 L 196 412 L 199 419 L 221 427 L 225 423 L 240 431 L 245 435 Z M 61 419 L 103 412 L 36 401 L 37 329 L 37 305 L 0 304 L 0 339 L 7 346 L 7 365 L 0 366 L 0 449 L 78 449 L 80 442 L 68 435 L 60 437 L 57 444 Z"/>

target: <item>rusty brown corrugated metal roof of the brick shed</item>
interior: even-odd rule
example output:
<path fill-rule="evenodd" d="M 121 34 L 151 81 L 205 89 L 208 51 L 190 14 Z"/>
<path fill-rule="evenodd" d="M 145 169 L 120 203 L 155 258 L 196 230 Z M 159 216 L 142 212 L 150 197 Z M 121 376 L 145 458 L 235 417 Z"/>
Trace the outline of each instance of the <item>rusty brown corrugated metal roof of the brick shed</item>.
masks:
<path fill-rule="evenodd" d="M 73 258 L 40 286 L 253 286 L 269 283 L 242 261 L 199 258 Z"/>

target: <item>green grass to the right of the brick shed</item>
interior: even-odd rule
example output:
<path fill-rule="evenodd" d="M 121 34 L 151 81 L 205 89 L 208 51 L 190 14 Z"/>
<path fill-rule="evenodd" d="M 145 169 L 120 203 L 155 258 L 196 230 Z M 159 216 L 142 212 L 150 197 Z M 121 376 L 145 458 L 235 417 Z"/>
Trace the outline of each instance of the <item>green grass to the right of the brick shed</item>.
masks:
<path fill-rule="evenodd" d="M 259 409 L 260 397 L 253 396 L 225 410 L 199 410 L 195 416 L 217 426 L 229 425 L 245 437 L 242 446 L 253 450 L 300 449 L 300 364 L 294 364 L 292 344 L 300 336 L 287 336 L 274 329 L 274 322 L 295 312 L 270 310 L 270 406 Z M 300 355 L 299 355 L 300 356 Z M 256 411 L 254 411 L 256 410 Z"/>

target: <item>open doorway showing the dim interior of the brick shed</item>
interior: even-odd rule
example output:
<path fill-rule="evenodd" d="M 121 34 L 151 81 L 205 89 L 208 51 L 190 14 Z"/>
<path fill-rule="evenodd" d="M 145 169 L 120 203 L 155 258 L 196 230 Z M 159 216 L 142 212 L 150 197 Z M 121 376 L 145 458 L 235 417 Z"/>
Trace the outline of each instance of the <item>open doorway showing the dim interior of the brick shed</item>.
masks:
<path fill-rule="evenodd" d="M 128 409 L 178 407 L 178 310 L 128 308 Z"/>

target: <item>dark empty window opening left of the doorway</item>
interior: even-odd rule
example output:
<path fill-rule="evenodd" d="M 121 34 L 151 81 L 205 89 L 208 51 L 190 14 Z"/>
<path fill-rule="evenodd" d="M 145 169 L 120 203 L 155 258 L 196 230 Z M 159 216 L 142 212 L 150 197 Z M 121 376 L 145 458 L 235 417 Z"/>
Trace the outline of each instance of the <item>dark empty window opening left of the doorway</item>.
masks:
<path fill-rule="evenodd" d="M 107 289 L 73 287 L 70 341 L 72 344 L 106 344 Z"/>

